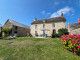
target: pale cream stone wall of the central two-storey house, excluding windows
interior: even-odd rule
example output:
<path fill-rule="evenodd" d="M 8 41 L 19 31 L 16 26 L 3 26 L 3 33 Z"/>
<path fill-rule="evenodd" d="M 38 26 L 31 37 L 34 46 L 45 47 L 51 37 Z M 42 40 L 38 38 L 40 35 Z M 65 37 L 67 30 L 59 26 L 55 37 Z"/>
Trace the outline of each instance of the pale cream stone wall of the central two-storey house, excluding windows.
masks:
<path fill-rule="evenodd" d="M 65 28 L 65 22 L 57 22 L 57 23 L 44 23 L 45 24 L 45 33 L 47 34 L 47 36 L 51 36 L 53 29 L 56 30 L 56 32 L 58 32 L 58 29 L 61 28 Z M 55 27 L 53 27 L 53 24 Z M 35 29 L 35 25 L 37 25 L 37 28 Z M 37 31 L 38 35 L 42 35 L 43 34 L 43 24 L 32 24 L 31 25 L 31 34 L 32 36 L 35 36 L 35 31 Z"/>

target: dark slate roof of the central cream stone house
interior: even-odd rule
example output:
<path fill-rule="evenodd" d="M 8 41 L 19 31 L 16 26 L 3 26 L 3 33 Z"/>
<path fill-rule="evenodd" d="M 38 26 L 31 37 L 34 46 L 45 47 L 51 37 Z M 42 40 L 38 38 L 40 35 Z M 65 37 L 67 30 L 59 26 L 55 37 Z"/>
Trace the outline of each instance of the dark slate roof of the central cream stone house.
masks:
<path fill-rule="evenodd" d="M 45 21 L 45 23 L 65 22 L 66 19 L 64 17 L 60 16 L 60 17 L 54 17 L 54 18 L 50 18 L 50 19 L 36 20 L 36 21 L 33 21 L 31 24 L 42 24 L 42 23 L 44 23 L 43 21 Z"/>

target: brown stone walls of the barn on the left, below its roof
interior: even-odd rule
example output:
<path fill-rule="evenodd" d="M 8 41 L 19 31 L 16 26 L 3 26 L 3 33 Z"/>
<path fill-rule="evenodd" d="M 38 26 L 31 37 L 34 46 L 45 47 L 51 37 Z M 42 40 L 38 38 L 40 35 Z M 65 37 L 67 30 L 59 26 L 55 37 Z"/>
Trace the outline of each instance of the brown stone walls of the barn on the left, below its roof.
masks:
<path fill-rule="evenodd" d="M 12 29 L 11 35 L 14 35 L 15 31 L 17 32 L 18 36 L 26 36 L 26 35 L 30 34 L 30 29 L 28 29 L 28 28 L 17 26 L 18 28 L 17 28 L 17 30 L 15 30 L 14 27 L 15 26 L 13 26 L 9 21 L 6 22 L 3 26 L 3 28 L 11 28 Z"/>

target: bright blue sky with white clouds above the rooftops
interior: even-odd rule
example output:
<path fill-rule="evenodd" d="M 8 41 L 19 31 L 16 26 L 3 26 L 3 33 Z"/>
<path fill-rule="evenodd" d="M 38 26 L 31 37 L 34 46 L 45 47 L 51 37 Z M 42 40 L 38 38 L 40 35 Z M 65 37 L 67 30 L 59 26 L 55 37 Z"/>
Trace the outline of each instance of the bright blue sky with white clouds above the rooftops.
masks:
<path fill-rule="evenodd" d="M 80 0 L 0 0 L 0 24 L 7 19 L 25 25 L 37 19 L 48 19 L 64 13 L 66 25 L 80 18 Z"/>

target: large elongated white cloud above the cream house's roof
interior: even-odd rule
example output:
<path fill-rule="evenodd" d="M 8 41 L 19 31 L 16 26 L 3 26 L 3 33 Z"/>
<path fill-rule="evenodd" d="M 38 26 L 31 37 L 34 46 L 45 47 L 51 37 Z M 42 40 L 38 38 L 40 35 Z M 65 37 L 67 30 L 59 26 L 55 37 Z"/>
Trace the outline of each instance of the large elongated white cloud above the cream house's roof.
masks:
<path fill-rule="evenodd" d="M 70 8 L 70 7 L 64 7 L 64 8 L 62 8 L 62 9 L 58 10 L 57 12 L 52 13 L 51 16 L 50 16 L 50 18 L 60 16 L 61 13 L 63 13 L 63 14 L 68 14 L 68 13 L 71 12 L 71 11 L 73 11 L 72 8 Z"/>

